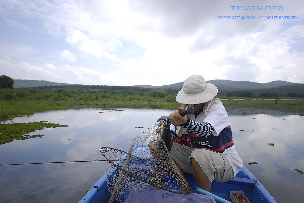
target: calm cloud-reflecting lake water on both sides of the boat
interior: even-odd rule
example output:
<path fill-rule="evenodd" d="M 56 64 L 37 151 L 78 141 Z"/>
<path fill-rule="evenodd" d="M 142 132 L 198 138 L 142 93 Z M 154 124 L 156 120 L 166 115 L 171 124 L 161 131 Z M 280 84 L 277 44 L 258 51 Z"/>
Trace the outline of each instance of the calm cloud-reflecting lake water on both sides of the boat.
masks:
<path fill-rule="evenodd" d="M 244 165 L 277 202 L 303 202 L 303 116 L 280 111 L 227 109 Z M 47 111 L 6 123 L 69 125 L 30 133 L 43 138 L 0 145 L 1 164 L 104 160 L 100 147 L 128 151 L 132 139 L 171 110 L 78 109 Z M 274 146 L 268 146 L 273 143 Z M 249 165 L 249 162 L 258 164 Z M 0 166 L 0 202 L 78 202 L 105 173 L 106 162 Z"/>

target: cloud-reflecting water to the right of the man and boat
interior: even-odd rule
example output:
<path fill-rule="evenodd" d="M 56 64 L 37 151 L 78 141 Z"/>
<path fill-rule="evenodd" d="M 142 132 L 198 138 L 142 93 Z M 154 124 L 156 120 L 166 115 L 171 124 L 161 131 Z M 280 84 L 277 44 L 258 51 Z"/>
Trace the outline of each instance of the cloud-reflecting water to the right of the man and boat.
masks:
<path fill-rule="evenodd" d="M 304 169 L 303 117 L 256 114 L 232 116 L 230 122 L 233 123 L 237 151 L 245 166 L 271 195 L 278 202 L 290 201 L 290 195 L 302 201 L 304 195 L 300 188 L 304 186 L 304 176 L 295 169 Z M 268 143 L 274 146 L 268 146 Z M 259 164 L 248 165 L 248 162 Z"/>

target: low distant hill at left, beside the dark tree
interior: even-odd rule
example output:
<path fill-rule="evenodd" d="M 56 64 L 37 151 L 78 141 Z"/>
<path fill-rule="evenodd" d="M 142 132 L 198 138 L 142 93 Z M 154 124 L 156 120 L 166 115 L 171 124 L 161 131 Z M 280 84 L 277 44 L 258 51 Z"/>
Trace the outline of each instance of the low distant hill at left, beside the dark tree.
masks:
<path fill-rule="evenodd" d="M 61 85 L 75 85 L 67 83 L 54 83 L 46 80 L 14 80 L 14 88 L 20 87 L 39 87 L 39 86 L 61 86 Z"/>

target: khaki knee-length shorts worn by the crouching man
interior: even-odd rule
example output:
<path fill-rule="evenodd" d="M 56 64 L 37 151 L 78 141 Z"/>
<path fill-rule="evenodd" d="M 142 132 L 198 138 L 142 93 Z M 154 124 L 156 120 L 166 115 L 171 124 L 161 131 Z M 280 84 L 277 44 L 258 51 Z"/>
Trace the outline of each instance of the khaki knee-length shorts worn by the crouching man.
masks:
<path fill-rule="evenodd" d="M 222 153 L 173 143 L 170 155 L 185 173 L 193 174 L 190 161 L 193 157 L 210 181 L 226 182 L 234 178 L 230 162 Z"/>

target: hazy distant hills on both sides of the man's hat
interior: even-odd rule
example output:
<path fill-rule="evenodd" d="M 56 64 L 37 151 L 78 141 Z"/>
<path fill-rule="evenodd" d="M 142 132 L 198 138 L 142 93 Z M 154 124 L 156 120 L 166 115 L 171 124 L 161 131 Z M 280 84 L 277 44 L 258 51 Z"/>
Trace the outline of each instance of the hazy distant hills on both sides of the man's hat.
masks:
<path fill-rule="evenodd" d="M 294 85 L 298 83 L 290 83 L 281 80 L 273 81 L 270 83 L 254 83 L 248 81 L 232 81 L 232 80 L 209 80 L 207 83 L 214 84 L 219 90 L 252 90 L 252 89 L 267 89 L 274 88 L 285 85 Z M 150 85 L 135 85 L 136 87 L 144 87 L 144 88 L 160 88 L 160 89 L 174 89 L 180 90 L 184 85 L 184 82 L 174 83 L 171 85 L 163 85 L 163 86 L 150 86 Z"/>

